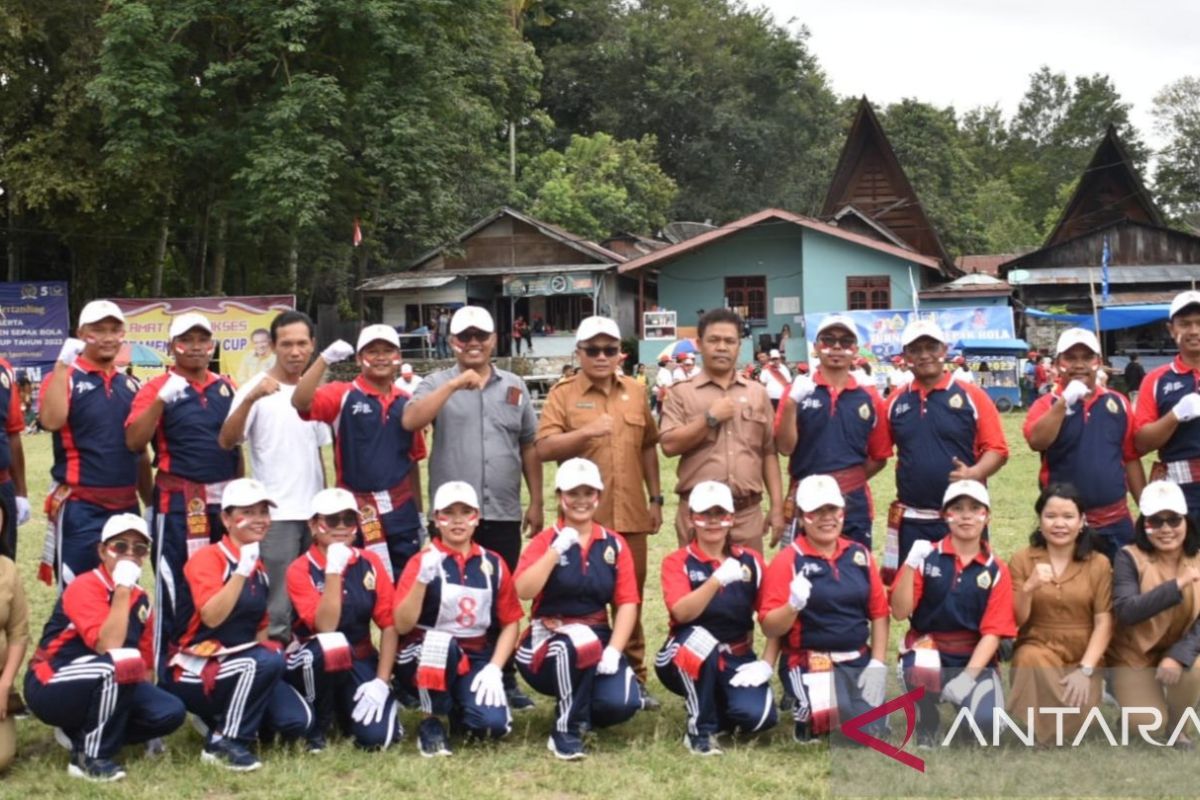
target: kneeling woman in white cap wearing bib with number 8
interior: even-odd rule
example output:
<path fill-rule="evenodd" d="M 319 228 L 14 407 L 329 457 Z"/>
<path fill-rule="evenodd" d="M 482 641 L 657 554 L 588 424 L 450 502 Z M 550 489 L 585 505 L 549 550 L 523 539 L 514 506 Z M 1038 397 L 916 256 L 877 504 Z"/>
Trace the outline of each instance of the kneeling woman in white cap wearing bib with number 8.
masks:
<path fill-rule="evenodd" d="M 400 576 L 394 614 L 404 637 L 397 680 L 419 690 L 416 745 L 430 758 L 451 754 L 443 716 L 480 739 L 509 733 L 502 670 L 524 615 L 504 559 L 473 539 L 479 497 L 470 483 L 438 487 L 433 523 L 430 546 Z"/>

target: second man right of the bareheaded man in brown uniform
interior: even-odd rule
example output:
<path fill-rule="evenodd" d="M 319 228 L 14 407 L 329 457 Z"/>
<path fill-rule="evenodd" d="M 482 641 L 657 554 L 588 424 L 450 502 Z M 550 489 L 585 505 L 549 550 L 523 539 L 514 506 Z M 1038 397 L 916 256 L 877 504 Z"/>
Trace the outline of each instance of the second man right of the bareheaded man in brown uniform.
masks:
<path fill-rule="evenodd" d="M 931 319 L 900 335 L 911 380 L 888 396 L 884 445 L 896 449 L 896 500 L 888 509 L 883 581 L 892 583 L 916 541 L 936 542 L 948 528 L 942 495 L 953 481 L 985 482 L 1008 461 L 996 404 L 973 383 L 947 373 L 947 336 Z"/>

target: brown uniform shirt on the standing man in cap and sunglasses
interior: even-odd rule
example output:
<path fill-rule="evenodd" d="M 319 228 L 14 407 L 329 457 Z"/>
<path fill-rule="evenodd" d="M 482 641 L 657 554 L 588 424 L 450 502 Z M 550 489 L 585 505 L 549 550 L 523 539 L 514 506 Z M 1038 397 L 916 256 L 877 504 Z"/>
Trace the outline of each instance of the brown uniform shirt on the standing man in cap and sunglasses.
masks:
<path fill-rule="evenodd" d="M 624 534 L 649 533 L 654 525 L 646 503 L 642 450 L 658 444 L 659 428 L 644 386 L 622 375 L 606 391 L 582 372 L 560 380 L 546 397 L 536 440 L 578 431 L 604 414 L 612 417 L 612 434 L 589 440 L 580 453 L 600 468 L 604 481 L 595 519 Z"/>

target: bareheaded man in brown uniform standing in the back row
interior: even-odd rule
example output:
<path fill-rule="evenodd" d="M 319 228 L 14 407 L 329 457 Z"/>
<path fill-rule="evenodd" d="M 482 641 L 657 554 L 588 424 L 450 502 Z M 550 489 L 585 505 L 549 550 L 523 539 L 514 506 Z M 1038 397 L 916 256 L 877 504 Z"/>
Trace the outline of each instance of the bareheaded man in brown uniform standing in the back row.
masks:
<path fill-rule="evenodd" d="M 671 386 L 662 411 L 662 452 L 679 456 L 679 509 L 701 481 L 733 492 L 733 541 L 762 552 L 769 527 L 784 528 L 784 492 L 775 455 L 774 411 L 766 387 L 736 372 L 742 318 L 715 308 L 700 318 L 703 369 Z M 767 519 L 763 493 L 770 500 Z M 688 543 L 688 515 L 676 515 L 679 545 Z"/>

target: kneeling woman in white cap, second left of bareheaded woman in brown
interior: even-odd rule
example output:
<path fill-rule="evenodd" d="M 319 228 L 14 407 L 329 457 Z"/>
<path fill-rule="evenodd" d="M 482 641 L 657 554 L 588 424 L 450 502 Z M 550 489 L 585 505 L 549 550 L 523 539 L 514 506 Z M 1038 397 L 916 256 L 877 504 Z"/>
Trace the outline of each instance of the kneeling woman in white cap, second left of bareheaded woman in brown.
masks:
<path fill-rule="evenodd" d="M 888 601 L 871 552 L 842 536 L 846 500 L 838 481 L 809 475 L 796 505 L 802 535 L 770 563 L 758 613 L 762 632 L 780 637 L 780 675 L 794 700 L 792 736 L 809 744 L 839 718 L 883 702 Z"/>

